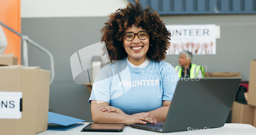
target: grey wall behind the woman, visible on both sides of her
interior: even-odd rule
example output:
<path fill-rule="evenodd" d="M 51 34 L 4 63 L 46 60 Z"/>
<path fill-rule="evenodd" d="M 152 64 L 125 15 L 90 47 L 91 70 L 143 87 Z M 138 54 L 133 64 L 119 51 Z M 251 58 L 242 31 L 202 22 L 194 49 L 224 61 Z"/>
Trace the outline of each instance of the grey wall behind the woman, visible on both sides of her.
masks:
<path fill-rule="evenodd" d="M 249 65 L 256 58 L 256 15 L 179 15 L 161 16 L 166 25 L 216 24 L 221 27 L 216 55 L 195 55 L 193 62 L 207 67 L 207 72 L 240 72 L 249 79 Z M 90 93 L 86 86 L 74 83 L 70 56 L 100 41 L 100 29 L 108 17 L 22 18 L 22 34 L 48 49 L 55 60 L 55 80 L 50 86 L 49 110 L 92 121 Z M 178 55 L 165 61 L 178 64 Z M 50 70 L 49 57 L 29 46 L 29 66 Z"/>

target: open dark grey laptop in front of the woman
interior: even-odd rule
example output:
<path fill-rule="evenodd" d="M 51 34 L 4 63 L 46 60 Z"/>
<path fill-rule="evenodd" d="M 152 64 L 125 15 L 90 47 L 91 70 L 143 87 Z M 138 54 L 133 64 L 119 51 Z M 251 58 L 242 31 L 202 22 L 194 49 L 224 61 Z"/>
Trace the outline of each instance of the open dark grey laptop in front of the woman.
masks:
<path fill-rule="evenodd" d="M 241 78 L 180 79 L 165 122 L 131 124 L 157 132 L 224 126 Z"/>

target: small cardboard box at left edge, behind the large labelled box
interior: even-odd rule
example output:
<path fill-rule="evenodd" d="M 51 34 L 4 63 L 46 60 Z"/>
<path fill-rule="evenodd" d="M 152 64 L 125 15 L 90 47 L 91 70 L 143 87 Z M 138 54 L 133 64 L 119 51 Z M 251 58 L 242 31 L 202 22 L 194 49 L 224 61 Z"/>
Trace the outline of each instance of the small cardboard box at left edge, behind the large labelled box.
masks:
<path fill-rule="evenodd" d="M 18 58 L 13 57 L 13 54 L 1 54 L 0 55 L 0 64 L 17 65 L 18 64 Z"/>

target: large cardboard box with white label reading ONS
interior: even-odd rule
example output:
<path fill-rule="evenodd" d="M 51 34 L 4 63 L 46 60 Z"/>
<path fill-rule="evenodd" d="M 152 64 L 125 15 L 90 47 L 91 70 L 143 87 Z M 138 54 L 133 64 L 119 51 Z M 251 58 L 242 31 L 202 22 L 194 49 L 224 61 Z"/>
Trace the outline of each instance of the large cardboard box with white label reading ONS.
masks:
<path fill-rule="evenodd" d="M 30 135 L 47 130 L 50 71 L 20 65 L 0 66 L 0 91 L 23 92 L 21 119 L 0 119 L 1 134 Z"/>

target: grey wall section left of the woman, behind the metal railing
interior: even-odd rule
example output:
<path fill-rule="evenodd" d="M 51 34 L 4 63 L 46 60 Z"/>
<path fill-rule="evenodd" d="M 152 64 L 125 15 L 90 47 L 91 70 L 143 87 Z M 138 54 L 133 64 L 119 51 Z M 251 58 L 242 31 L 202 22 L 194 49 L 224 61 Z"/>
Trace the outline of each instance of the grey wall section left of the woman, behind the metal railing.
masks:
<path fill-rule="evenodd" d="M 55 62 L 55 80 L 50 86 L 49 110 L 92 121 L 86 86 L 74 83 L 70 57 L 76 51 L 100 41 L 100 29 L 107 17 L 22 18 L 22 34 L 49 50 Z M 49 57 L 29 45 L 29 66 L 50 70 Z"/>

